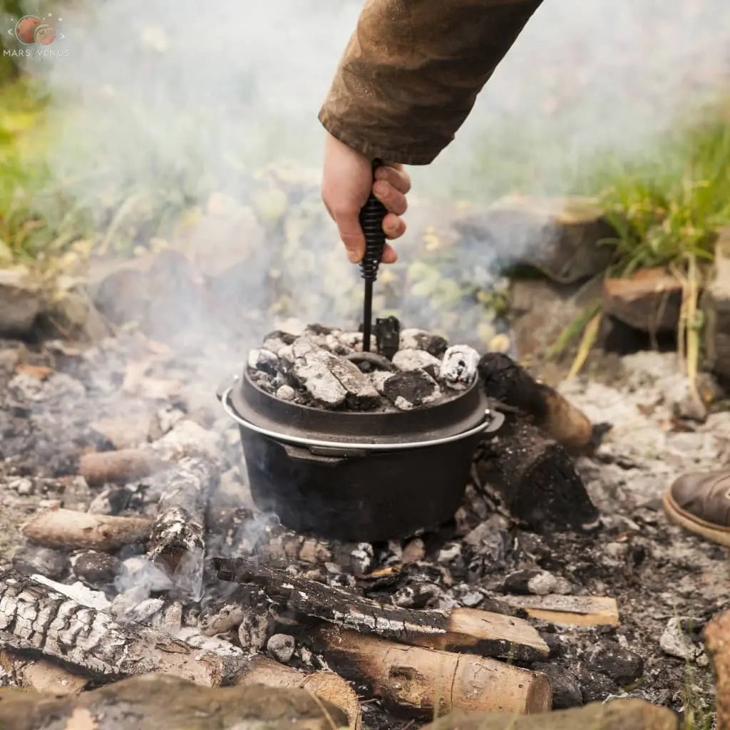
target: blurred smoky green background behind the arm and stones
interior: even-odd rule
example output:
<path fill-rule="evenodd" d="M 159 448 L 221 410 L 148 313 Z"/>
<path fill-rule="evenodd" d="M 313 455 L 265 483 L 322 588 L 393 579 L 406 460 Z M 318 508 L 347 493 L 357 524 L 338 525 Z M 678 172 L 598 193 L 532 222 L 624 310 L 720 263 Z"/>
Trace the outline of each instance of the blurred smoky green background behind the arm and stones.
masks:
<path fill-rule="evenodd" d="M 3 0 L 0 261 L 77 274 L 172 248 L 196 274 L 230 272 L 215 296 L 231 320 L 353 326 L 317 115 L 360 7 Z M 52 55 L 13 55 L 28 13 L 54 26 Z M 611 275 L 701 270 L 730 216 L 729 21 L 724 0 L 545 0 L 456 141 L 411 169 L 412 228 L 378 313 L 491 342 L 499 247 L 453 231 L 514 193 L 595 200 L 616 231 Z"/>

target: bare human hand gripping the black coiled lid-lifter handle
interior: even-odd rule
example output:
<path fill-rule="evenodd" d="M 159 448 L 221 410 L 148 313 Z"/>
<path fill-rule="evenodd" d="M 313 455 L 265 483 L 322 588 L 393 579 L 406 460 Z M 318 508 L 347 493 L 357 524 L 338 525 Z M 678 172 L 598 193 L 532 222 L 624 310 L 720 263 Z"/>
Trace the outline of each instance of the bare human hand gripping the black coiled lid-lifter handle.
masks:
<path fill-rule="evenodd" d="M 408 173 L 402 165 L 385 163 L 373 174 L 372 162 L 365 155 L 327 133 L 322 200 L 332 220 L 337 223 L 347 258 L 353 264 L 357 264 L 365 254 L 365 237 L 358 215 L 371 191 L 388 210 L 383 218 L 385 237 L 391 240 L 401 237 L 406 230 L 401 215 L 406 212 L 406 193 L 410 191 Z M 397 258 L 393 247 L 385 244 L 383 264 L 392 264 Z"/>

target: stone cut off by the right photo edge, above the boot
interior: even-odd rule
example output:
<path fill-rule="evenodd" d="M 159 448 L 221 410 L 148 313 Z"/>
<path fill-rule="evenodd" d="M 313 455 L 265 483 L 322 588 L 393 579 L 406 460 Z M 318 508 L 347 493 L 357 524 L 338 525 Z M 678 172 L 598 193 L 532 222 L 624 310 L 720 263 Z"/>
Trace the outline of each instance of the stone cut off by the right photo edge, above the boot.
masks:
<path fill-rule="evenodd" d="M 707 366 L 730 378 L 730 227 L 723 228 L 715 245 L 714 271 L 702 294 L 702 312 Z"/>

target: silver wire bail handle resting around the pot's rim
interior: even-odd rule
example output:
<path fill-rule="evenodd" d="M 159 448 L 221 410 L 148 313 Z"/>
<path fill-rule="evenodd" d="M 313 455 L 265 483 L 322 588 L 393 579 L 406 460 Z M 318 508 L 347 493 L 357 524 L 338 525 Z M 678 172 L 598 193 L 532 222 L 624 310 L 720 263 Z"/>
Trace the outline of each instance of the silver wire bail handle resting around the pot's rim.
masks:
<path fill-rule="evenodd" d="M 257 434 L 266 436 L 272 439 L 276 439 L 280 442 L 289 444 L 325 448 L 325 449 L 345 449 L 348 451 L 400 451 L 415 448 L 424 448 L 431 446 L 439 446 L 454 441 L 460 441 L 461 439 L 467 439 L 472 436 L 476 436 L 480 433 L 492 433 L 497 431 L 504 423 L 504 414 L 499 411 L 493 411 L 490 408 L 485 408 L 483 412 L 483 418 L 477 426 L 473 426 L 466 431 L 461 431 L 458 434 L 451 434 L 450 436 L 442 436 L 437 439 L 427 439 L 424 441 L 411 441 L 411 442 L 363 442 L 363 441 L 331 441 L 323 439 L 312 439 L 308 437 L 293 436 L 291 434 L 285 434 L 280 431 L 273 431 L 272 429 L 265 429 L 261 426 L 256 426 L 249 420 L 242 418 L 241 415 L 235 410 L 234 405 L 231 402 L 231 393 L 234 390 L 234 386 L 231 385 L 226 388 L 223 393 L 220 393 L 220 404 L 223 406 L 223 410 L 226 412 L 229 418 L 234 420 L 244 429 L 249 431 L 255 431 Z"/>

